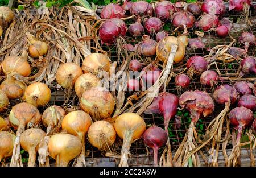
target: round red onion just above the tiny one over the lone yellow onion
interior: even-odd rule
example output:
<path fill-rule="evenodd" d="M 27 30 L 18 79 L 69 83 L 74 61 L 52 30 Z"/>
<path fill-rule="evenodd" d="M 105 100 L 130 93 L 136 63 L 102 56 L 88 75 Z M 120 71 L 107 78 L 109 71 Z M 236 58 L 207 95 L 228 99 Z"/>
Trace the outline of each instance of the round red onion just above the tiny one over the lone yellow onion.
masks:
<path fill-rule="evenodd" d="M 151 17 L 145 20 L 144 27 L 149 34 L 155 34 L 162 28 L 162 22 L 159 18 Z"/>

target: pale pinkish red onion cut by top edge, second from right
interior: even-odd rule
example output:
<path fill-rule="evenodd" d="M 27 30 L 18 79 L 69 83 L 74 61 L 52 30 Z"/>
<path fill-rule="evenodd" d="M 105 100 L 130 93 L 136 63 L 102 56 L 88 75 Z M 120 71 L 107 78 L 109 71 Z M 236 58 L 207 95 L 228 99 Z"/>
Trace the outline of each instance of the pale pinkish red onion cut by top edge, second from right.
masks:
<path fill-rule="evenodd" d="M 202 11 L 207 14 L 223 15 L 226 11 L 226 6 L 222 0 L 204 0 Z"/>

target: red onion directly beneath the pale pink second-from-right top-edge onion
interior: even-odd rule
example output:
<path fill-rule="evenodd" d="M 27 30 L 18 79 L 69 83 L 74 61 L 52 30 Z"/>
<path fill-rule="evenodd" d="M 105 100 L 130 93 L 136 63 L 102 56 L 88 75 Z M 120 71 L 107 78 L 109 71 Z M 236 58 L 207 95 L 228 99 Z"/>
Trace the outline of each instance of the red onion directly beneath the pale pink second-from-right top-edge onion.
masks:
<path fill-rule="evenodd" d="M 203 31 L 208 31 L 211 28 L 218 26 L 218 16 L 214 14 L 204 14 L 199 20 L 199 26 Z"/>

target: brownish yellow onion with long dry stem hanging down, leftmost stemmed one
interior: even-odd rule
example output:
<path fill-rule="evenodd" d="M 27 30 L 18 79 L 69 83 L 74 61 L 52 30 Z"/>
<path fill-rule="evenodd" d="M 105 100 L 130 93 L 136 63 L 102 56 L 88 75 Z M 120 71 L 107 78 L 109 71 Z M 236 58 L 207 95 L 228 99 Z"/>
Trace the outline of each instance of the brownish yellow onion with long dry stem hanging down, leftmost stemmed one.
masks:
<path fill-rule="evenodd" d="M 30 128 L 37 125 L 41 121 L 41 114 L 35 106 L 26 102 L 19 103 L 10 111 L 9 122 L 16 131 L 16 139 L 13 148 L 13 156 L 11 158 L 10 166 L 20 166 L 18 160 L 20 159 L 20 135 L 25 130 L 25 127 Z"/>

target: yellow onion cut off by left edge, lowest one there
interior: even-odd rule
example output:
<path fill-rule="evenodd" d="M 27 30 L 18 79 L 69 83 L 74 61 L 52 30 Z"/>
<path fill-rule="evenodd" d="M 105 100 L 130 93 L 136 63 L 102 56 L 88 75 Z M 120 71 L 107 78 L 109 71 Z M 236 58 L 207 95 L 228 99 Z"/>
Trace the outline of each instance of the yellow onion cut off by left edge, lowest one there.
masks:
<path fill-rule="evenodd" d="M 13 147 L 16 136 L 7 131 L 0 131 L 0 162 L 13 154 Z"/>

